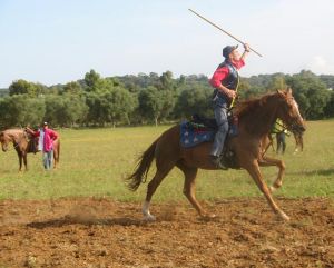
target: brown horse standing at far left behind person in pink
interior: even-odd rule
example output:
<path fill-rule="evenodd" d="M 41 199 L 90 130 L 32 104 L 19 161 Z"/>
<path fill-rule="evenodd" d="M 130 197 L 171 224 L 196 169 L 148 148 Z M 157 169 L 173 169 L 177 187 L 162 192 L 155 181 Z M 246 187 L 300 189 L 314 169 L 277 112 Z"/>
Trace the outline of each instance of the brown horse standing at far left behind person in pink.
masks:
<path fill-rule="evenodd" d="M 30 135 L 27 133 L 23 129 L 7 129 L 0 132 L 0 142 L 2 146 L 2 151 L 8 151 L 8 146 L 12 142 L 13 148 L 16 149 L 20 168 L 22 170 L 22 160 L 24 162 L 26 170 L 28 170 L 27 165 L 27 153 L 36 152 L 36 140 Z M 53 159 L 55 159 L 55 168 L 59 162 L 59 153 L 60 153 L 60 140 L 59 138 L 53 141 Z"/>

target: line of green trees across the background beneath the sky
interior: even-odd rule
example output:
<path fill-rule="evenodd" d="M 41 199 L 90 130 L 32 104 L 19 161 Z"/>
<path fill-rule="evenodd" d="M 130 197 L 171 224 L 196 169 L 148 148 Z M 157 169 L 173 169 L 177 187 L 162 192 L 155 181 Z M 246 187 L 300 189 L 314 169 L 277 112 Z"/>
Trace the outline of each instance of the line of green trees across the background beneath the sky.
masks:
<path fill-rule="evenodd" d="M 52 127 L 144 125 L 178 121 L 194 113 L 213 116 L 213 88 L 208 77 L 170 71 L 102 78 L 90 70 L 78 81 L 47 87 L 19 79 L 0 90 L 0 127 Z M 242 78 L 239 99 L 254 98 L 292 87 L 306 119 L 334 116 L 334 76 L 259 75 Z"/>

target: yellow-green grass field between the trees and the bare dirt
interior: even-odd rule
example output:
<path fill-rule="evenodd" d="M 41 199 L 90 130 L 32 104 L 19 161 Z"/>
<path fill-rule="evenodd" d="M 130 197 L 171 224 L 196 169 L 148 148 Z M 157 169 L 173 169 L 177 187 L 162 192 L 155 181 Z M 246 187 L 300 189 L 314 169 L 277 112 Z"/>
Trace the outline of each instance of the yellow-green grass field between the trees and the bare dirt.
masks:
<path fill-rule="evenodd" d="M 60 130 L 61 153 L 57 170 L 46 172 L 41 153 L 29 155 L 29 171 L 18 172 L 16 152 L 0 156 L 0 199 L 49 199 L 96 196 L 121 201 L 143 200 L 146 185 L 129 191 L 124 178 L 130 173 L 139 153 L 168 126 L 116 129 Z M 293 155 L 294 139 L 287 138 L 283 158 L 286 163 L 284 185 L 276 196 L 334 197 L 334 120 L 307 122 L 304 152 Z M 269 155 L 272 155 L 269 150 Z M 272 182 L 276 168 L 262 168 Z M 153 175 L 153 170 L 150 171 Z M 151 176 L 150 176 L 151 177 Z M 174 169 L 158 188 L 155 201 L 185 200 L 183 175 Z M 197 177 L 197 197 L 259 196 L 246 171 L 205 171 Z"/>

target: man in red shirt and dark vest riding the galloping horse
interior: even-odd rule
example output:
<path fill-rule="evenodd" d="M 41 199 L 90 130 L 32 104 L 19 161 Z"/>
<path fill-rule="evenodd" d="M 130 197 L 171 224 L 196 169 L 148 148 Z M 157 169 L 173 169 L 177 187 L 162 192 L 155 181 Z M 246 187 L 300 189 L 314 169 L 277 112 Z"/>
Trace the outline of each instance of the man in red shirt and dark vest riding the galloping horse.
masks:
<path fill-rule="evenodd" d="M 238 46 L 227 46 L 223 49 L 225 61 L 218 66 L 210 85 L 215 88 L 213 102 L 215 119 L 218 126 L 214 145 L 210 151 L 210 161 L 215 167 L 226 169 L 222 163 L 220 155 L 224 148 L 224 141 L 228 131 L 227 110 L 236 98 L 236 89 L 239 82 L 238 70 L 245 66 L 245 58 L 250 52 L 249 46 L 244 44 L 244 52 L 240 56 Z"/>

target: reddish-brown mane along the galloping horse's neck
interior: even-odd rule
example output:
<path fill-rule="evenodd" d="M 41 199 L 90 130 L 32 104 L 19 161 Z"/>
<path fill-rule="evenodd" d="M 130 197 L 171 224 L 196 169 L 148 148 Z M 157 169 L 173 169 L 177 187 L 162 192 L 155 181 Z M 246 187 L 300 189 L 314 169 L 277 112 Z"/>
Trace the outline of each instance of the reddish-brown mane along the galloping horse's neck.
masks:
<path fill-rule="evenodd" d="M 259 108 L 262 108 L 268 101 L 269 98 L 272 98 L 273 96 L 276 96 L 276 95 L 277 95 L 276 92 L 275 93 L 266 93 L 262 97 L 240 101 L 236 106 L 234 113 L 236 116 L 238 116 L 239 118 L 243 118 L 245 115 L 253 113 L 255 110 L 258 110 Z"/>

